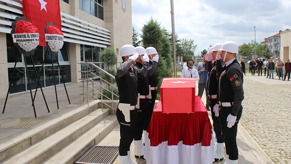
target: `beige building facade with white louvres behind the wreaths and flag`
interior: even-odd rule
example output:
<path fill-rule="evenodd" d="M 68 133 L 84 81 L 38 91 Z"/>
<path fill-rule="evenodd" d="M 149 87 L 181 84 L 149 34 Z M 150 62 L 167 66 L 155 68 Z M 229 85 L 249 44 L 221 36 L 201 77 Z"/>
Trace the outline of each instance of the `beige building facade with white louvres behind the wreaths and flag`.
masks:
<path fill-rule="evenodd" d="M 120 48 L 132 44 L 131 0 L 61 0 L 62 32 L 64 45 L 57 58 L 47 54 L 47 47 L 38 46 L 33 55 L 42 87 L 65 82 L 79 82 L 80 61 L 99 62 L 99 52 L 111 47 L 119 56 Z M 5 98 L 12 77 L 15 62 L 16 70 L 10 94 L 29 91 L 24 57 L 14 47 L 10 35 L 11 22 L 23 16 L 22 0 L 0 1 L 0 98 Z M 118 57 L 120 60 L 121 57 Z M 32 89 L 36 89 L 36 75 L 32 61 L 26 57 Z M 41 66 L 45 62 L 45 69 Z M 55 75 L 52 73 L 54 64 Z M 64 76 L 62 79 L 61 75 Z"/>

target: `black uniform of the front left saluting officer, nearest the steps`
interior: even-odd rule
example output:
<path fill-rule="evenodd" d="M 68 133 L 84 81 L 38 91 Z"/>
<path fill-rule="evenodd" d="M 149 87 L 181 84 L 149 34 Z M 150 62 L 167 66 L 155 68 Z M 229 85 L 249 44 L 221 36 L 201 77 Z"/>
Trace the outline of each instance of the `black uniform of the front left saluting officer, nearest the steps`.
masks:
<path fill-rule="evenodd" d="M 136 70 L 131 67 L 132 59 L 123 62 L 117 69 L 115 74 L 116 84 L 118 87 L 119 103 L 137 104 L 138 88 Z M 147 66 L 144 66 L 147 67 Z M 130 110 L 130 122 L 125 121 L 123 113 L 117 108 L 116 117 L 120 124 L 120 156 L 127 156 L 130 144 L 134 138 L 134 125 L 137 120 L 137 109 Z"/>

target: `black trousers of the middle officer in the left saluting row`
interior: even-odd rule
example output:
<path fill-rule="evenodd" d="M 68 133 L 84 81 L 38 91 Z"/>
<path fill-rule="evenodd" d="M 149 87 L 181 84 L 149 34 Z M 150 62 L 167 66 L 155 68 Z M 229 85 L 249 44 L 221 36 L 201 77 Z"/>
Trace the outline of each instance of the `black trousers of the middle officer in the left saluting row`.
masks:
<path fill-rule="evenodd" d="M 137 109 L 137 121 L 134 131 L 134 140 L 139 141 L 143 136 L 143 126 L 145 124 L 146 113 L 148 112 L 148 98 L 139 99 L 139 109 Z"/>

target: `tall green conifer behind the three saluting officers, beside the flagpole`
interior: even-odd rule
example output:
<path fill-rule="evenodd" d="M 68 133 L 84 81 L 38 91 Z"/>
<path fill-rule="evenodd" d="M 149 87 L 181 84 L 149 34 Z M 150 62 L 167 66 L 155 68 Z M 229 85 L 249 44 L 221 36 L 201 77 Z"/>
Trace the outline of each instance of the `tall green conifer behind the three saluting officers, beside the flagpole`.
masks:
<path fill-rule="evenodd" d="M 162 29 L 160 23 L 157 20 L 153 20 L 151 17 L 150 20 L 143 25 L 141 29 L 141 38 L 143 46 L 155 47 L 159 53 L 159 62 L 156 68 L 157 77 L 158 77 L 158 92 L 160 91 L 160 86 L 164 77 L 172 77 L 171 68 L 172 68 L 172 58 L 171 58 L 171 43 L 166 37 L 166 30 Z"/>

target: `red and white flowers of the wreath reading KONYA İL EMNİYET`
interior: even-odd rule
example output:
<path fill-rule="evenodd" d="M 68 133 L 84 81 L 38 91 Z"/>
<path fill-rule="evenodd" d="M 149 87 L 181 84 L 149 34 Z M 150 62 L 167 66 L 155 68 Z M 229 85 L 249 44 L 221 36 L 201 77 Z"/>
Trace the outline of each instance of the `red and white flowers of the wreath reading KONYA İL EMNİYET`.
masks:
<path fill-rule="evenodd" d="M 31 22 L 26 22 L 24 20 L 17 21 L 15 25 L 15 33 L 37 33 L 39 36 L 38 29 Z M 18 45 L 26 52 L 35 49 L 39 45 L 39 41 L 31 42 L 20 42 Z"/>

